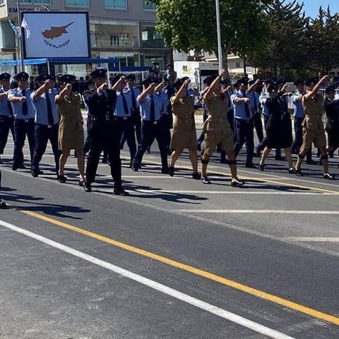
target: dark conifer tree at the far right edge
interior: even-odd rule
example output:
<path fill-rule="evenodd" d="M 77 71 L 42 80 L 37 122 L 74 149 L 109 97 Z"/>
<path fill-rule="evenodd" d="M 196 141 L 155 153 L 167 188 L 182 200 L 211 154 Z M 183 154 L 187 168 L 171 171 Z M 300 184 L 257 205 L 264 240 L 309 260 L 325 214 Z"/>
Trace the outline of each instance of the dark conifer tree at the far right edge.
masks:
<path fill-rule="evenodd" d="M 339 15 L 319 8 L 318 16 L 307 28 L 309 68 L 328 73 L 339 66 Z"/>

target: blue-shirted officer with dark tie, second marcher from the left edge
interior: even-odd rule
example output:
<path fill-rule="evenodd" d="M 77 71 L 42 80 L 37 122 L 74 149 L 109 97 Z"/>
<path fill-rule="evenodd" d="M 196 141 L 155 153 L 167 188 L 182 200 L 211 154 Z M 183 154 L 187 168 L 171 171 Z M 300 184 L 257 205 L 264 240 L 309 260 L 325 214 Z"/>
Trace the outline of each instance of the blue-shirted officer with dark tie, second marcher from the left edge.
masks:
<path fill-rule="evenodd" d="M 35 148 L 35 109 L 32 105 L 30 95 L 32 90 L 28 89 L 28 73 L 20 72 L 16 75 L 18 88 L 8 91 L 8 101 L 11 102 L 14 115 L 14 159 L 13 171 L 25 168 L 23 165 L 23 145 L 28 138 L 30 145 L 30 160 L 32 161 Z"/>

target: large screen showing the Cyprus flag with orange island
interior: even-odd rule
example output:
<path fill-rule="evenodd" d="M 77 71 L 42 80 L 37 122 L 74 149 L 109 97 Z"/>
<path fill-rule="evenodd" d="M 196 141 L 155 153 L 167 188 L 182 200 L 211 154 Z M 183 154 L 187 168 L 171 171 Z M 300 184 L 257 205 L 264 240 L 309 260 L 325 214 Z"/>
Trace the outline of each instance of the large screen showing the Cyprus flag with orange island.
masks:
<path fill-rule="evenodd" d="M 88 13 L 25 12 L 25 59 L 90 57 Z"/>

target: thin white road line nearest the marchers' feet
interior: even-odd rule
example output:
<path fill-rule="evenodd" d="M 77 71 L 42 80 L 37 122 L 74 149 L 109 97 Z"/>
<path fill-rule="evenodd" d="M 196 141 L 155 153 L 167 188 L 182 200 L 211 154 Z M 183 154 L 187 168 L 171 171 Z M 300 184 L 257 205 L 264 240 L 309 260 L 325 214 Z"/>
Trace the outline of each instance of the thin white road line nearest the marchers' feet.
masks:
<path fill-rule="evenodd" d="M 124 176 L 126 178 L 126 176 Z M 159 177 L 157 177 L 159 178 Z M 152 189 L 136 189 L 135 191 L 141 193 L 169 193 L 169 194 L 260 194 L 260 195 L 285 195 L 285 196 L 295 196 L 297 195 L 306 195 L 306 196 L 338 196 L 335 193 L 321 193 L 321 192 L 269 192 L 269 191 L 183 191 L 183 190 L 152 190 Z"/>

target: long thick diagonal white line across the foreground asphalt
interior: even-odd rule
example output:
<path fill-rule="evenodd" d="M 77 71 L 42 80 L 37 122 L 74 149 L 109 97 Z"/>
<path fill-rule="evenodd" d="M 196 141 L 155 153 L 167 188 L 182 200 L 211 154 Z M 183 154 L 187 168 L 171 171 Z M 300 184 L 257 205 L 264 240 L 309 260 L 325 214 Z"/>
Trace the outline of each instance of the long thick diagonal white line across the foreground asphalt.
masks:
<path fill-rule="evenodd" d="M 59 249 L 60 251 L 64 251 L 68 254 L 71 254 L 72 256 L 76 256 L 77 258 L 81 258 L 81 259 L 88 261 L 90 263 L 93 263 L 97 266 L 100 266 L 102 268 L 106 268 L 107 270 L 110 270 L 114 273 L 117 273 L 119 275 L 123 275 L 124 277 L 129 278 L 131 280 L 134 280 L 137 283 L 141 283 L 142 285 L 148 286 L 148 287 L 152 288 L 153 290 L 157 290 L 158 292 L 162 292 L 165 295 L 169 295 L 170 297 L 174 297 L 175 299 L 179 299 L 182 302 L 186 302 L 187 304 L 191 304 L 194 307 L 198 307 L 199 309 L 203 309 L 204 311 L 208 311 L 211 314 L 215 314 L 216 316 L 220 316 L 223 319 L 226 319 L 228 321 L 232 321 L 233 323 L 237 323 L 240 326 L 249 328 L 250 330 L 252 330 L 256 333 L 261 333 L 263 335 L 267 335 L 268 337 L 274 338 L 274 339 L 295 339 L 295 338 L 290 337 L 289 335 L 285 335 L 283 333 L 275 331 L 272 328 L 268 328 L 266 326 L 263 326 L 260 323 L 256 323 L 256 322 L 251 321 L 249 319 L 246 319 L 242 316 L 238 316 L 237 314 L 231 313 L 230 311 L 226 311 L 225 309 L 221 309 L 220 307 L 215 307 L 214 305 L 208 304 L 207 302 L 203 302 L 200 299 L 196 299 L 196 298 L 191 297 L 189 295 L 186 295 L 182 292 L 179 292 L 178 290 L 174 290 L 171 287 L 157 283 L 154 280 L 150 280 L 148 278 L 145 278 L 142 275 L 138 275 L 138 274 L 133 273 L 129 270 L 125 270 L 124 268 L 121 268 L 119 266 L 115 266 L 112 263 L 108 263 L 107 261 L 103 261 L 99 258 L 95 258 L 94 256 L 90 256 L 90 255 L 85 254 L 81 251 L 73 249 L 72 247 L 66 246 L 64 244 L 60 244 L 59 242 L 54 242 L 53 240 L 42 237 L 39 234 L 30 232 L 28 230 L 24 230 L 23 228 L 20 228 L 16 225 L 12 225 L 12 224 L 5 222 L 3 220 L 0 220 L 0 225 L 8 228 L 9 230 L 12 230 L 14 232 L 18 232 L 20 234 L 23 234 L 26 237 L 30 237 L 32 239 L 35 239 L 38 242 L 42 242 L 44 244 L 52 246 L 55 249 Z"/>

